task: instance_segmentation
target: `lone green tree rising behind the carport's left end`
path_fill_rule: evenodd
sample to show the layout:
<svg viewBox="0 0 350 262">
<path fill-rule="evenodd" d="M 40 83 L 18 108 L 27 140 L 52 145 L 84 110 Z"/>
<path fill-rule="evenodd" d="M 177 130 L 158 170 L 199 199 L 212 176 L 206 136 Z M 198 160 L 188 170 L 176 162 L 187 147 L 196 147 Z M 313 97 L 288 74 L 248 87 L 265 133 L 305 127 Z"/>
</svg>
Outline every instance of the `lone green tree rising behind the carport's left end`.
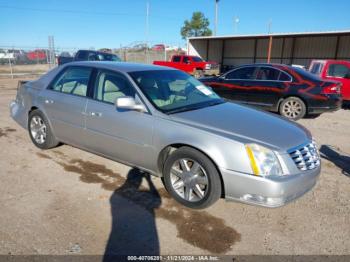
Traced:
<svg viewBox="0 0 350 262">
<path fill-rule="evenodd" d="M 183 39 L 192 36 L 209 36 L 212 31 L 209 29 L 209 20 L 202 12 L 194 12 L 191 21 L 185 20 L 181 27 L 181 36 Z"/>
</svg>

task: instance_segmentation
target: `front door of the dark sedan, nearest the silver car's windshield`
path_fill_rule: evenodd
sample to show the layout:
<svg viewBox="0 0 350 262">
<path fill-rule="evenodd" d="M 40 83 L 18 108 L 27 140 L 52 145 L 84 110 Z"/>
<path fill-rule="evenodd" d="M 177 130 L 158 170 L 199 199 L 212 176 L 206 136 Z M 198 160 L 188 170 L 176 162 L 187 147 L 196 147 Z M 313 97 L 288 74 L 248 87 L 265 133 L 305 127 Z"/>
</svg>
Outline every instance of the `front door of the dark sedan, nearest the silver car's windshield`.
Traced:
<svg viewBox="0 0 350 262">
<path fill-rule="evenodd" d="M 256 67 L 244 66 L 233 69 L 211 86 L 215 92 L 229 100 L 246 103 L 247 88 L 253 84 Z"/>
</svg>

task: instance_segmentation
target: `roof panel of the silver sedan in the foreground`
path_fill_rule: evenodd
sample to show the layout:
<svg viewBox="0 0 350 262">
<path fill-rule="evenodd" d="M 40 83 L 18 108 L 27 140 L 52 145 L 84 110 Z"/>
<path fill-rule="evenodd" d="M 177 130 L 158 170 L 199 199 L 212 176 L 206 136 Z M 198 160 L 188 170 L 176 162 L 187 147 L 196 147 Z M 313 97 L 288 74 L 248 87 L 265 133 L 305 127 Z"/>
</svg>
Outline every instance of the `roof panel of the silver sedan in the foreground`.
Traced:
<svg viewBox="0 0 350 262">
<path fill-rule="evenodd" d="M 65 64 L 76 66 L 91 66 L 96 68 L 109 69 L 114 71 L 120 71 L 124 73 L 136 72 L 136 71 L 151 71 L 151 70 L 175 70 L 170 67 L 127 63 L 127 62 L 115 62 L 115 61 L 78 61 Z"/>
</svg>

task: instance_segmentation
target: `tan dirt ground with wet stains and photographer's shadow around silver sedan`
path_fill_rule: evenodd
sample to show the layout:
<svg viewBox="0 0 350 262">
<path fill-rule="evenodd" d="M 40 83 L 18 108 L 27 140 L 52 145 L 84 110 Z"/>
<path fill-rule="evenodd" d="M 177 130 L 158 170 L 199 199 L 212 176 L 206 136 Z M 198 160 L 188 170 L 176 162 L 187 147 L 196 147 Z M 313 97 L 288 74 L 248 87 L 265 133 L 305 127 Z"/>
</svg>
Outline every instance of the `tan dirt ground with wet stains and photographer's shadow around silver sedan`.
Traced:
<svg viewBox="0 0 350 262">
<path fill-rule="evenodd" d="M 324 156 L 301 199 L 193 211 L 138 170 L 67 145 L 37 149 L 9 117 L 16 86 L 0 79 L 0 254 L 350 255 L 350 110 L 299 121 Z"/>
</svg>

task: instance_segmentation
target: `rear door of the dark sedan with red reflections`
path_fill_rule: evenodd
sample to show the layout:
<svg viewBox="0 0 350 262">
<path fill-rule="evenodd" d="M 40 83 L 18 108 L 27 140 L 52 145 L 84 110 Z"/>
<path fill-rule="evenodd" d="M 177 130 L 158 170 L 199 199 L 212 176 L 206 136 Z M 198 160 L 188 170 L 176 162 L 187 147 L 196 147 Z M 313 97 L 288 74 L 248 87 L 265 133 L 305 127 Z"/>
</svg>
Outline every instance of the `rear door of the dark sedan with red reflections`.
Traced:
<svg viewBox="0 0 350 262">
<path fill-rule="evenodd" d="M 276 105 L 283 96 L 285 82 L 290 82 L 291 77 L 272 66 L 260 66 L 251 81 L 251 85 L 245 90 L 246 102 L 263 108 L 271 108 Z"/>
</svg>

